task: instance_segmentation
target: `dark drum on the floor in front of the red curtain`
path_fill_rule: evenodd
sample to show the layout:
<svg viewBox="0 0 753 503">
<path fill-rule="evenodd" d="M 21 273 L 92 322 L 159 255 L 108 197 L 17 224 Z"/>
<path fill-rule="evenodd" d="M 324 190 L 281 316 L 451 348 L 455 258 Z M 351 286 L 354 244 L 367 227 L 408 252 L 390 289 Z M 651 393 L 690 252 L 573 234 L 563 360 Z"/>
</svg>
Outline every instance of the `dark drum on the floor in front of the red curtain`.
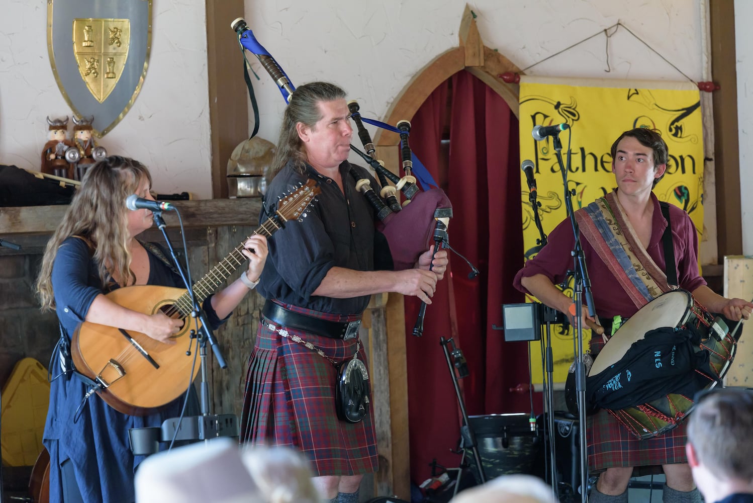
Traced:
<svg viewBox="0 0 753 503">
<path fill-rule="evenodd" d="M 489 414 L 486 416 L 468 416 L 468 423 L 476 437 L 481 466 L 486 480 L 492 480 L 502 474 L 532 474 L 540 449 L 537 432 L 531 431 L 529 414 Z M 481 483 L 474 463 L 471 439 L 468 428 L 461 428 L 463 447 L 471 471 L 477 483 Z"/>
</svg>

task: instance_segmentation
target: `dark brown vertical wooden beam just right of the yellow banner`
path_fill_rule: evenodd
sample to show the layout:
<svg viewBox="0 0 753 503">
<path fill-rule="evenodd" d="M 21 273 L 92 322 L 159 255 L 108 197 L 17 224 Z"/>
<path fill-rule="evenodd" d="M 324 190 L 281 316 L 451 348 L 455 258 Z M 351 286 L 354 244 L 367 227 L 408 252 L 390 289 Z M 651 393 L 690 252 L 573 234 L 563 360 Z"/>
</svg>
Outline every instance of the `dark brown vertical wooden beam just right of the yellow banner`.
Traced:
<svg viewBox="0 0 753 503">
<path fill-rule="evenodd" d="M 737 130 L 735 2 L 709 2 L 713 93 L 718 256 L 742 254 L 740 164 Z"/>
</svg>

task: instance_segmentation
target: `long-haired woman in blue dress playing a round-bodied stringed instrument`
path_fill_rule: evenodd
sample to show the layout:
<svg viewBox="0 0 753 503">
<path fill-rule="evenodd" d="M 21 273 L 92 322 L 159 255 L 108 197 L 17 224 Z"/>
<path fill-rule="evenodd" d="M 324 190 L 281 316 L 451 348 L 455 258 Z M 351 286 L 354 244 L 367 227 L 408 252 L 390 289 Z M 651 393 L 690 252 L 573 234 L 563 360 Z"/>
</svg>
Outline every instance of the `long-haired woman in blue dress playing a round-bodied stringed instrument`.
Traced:
<svg viewBox="0 0 753 503">
<path fill-rule="evenodd" d="M 137 312 L 114 303 L 105 294 L 131 285 L 183 287 L 180 277 L 162 258 L 136 239 L 153 224 L 148 209 L 131 211 L 131 194 L 150 199 L 151 175 L 141 163 L 107 157 L 87 172 L 66 215 L 47 243 L 37 280 L 43 310 L 55 309 L 63 335 L 69 340 L 81 322 L 121 328 L 148 335 L 164 344 L 183 321 L 157 312 Z M 248 270 L 241 278 L 203 301 L 212 328 L 255 286 L 267 259 L 267 240 L 255 235 L 244 243 Z M 130 451 L 130 428 L 159 427 L 178 416 L 182 398 L 146 416 L 119 413 L 99 397 L 76 410 L 87 385 L 62 373 L 53 355 L 50 408 L 44 426 L 44 446 L 50 452 L 50 501 L 134 501 L 133 474 L 142 457 Z M 158 386 L 159 383 L 154 383 Z"/>
</svg>

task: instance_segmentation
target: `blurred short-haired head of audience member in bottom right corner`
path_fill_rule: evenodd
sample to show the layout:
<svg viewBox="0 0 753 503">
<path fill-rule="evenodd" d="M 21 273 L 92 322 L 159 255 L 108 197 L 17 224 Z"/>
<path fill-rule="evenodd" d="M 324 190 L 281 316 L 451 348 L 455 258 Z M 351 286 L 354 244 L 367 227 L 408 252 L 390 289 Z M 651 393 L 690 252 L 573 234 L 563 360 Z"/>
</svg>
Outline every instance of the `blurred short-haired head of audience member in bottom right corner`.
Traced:
<svg viewBox="0 0 753 503">
<path fill-rule="evenodd" d="M 715 389 L 700 398 L 688 419 L 685 451 L 709 503 L 753 494 L 753 390 Z"/>
</svg>

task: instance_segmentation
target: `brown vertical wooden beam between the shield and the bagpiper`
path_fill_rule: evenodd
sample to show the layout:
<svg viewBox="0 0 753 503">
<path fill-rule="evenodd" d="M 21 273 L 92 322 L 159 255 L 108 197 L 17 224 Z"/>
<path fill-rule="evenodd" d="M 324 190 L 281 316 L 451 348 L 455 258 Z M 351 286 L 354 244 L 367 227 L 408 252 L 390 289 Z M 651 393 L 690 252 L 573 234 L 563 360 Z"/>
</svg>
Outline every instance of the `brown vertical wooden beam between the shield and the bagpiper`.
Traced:
<svg viewBox="0 0 753 503">
<path fill-rule="evenodd" d="M 212 145 L 212 197 L 227 197 L 227 160 L 248 139 L 248 91 L 243 58 L 230 23 L 243 15 L 243 0 L 207 0 L 206 59 Z"/>
</svg>

